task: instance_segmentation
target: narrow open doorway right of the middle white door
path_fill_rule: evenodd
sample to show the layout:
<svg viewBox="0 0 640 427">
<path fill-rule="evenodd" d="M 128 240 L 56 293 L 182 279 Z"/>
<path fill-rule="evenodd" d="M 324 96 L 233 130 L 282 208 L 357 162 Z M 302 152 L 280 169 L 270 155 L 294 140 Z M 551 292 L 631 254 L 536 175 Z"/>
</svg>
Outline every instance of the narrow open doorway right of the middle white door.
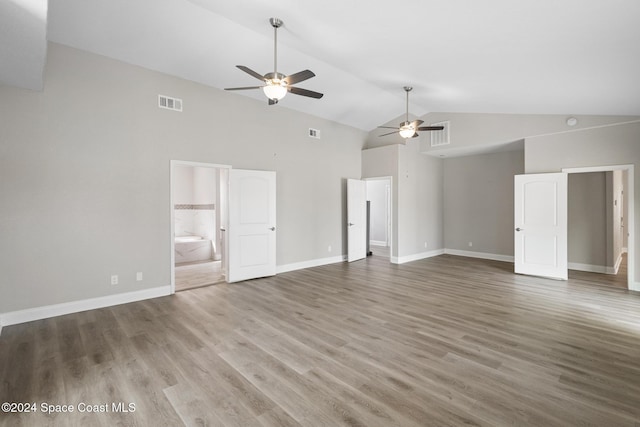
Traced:
<svg viewBox="0 0 640 427">
<path fill-rule="evenodd" d="M 369 202 L 369 250 L 373 256 L 391 260 L 391 177 L 366 178 Z"/>
</svg>

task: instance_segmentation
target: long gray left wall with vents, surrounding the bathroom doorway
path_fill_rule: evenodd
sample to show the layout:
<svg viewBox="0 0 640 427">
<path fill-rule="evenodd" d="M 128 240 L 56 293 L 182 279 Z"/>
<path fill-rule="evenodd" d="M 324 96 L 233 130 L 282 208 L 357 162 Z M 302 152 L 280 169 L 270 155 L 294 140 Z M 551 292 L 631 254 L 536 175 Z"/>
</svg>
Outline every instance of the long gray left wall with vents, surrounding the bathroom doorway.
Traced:
<svg viewBox="0 0 640 427">
<path fill-rule="evenodd" d="M 0 313 L 169 286 L 172 159 L 276 171 L 277 264 L 341 255 L 343 179 L 361 176 L 365 138 L 51 44 L 42 92 L 0 86 Z"/>
</svg>

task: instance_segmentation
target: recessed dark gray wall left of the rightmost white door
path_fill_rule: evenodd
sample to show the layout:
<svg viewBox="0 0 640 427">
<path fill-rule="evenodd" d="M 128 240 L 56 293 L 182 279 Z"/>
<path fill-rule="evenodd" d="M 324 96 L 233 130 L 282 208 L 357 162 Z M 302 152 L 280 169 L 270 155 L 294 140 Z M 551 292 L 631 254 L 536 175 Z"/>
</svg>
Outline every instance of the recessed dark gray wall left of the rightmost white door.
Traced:
<svg viewBox="0 0 640 427">
<path fill-rule="evenodd" d="M 446 159 L 445 247 L 513 256 L 513 177 L 522 173 L 524 151 Z"/>
</svg>

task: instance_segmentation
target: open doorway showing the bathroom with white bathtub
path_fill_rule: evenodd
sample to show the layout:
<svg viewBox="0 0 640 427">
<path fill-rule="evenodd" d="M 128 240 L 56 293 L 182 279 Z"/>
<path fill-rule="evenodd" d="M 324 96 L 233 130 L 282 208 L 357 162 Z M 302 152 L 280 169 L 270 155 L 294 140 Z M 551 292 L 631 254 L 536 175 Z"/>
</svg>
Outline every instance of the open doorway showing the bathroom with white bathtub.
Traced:
<svg viewBox="0 0 640 427">
<path fill-rule="evenodd" d="M 226 280 L 230 166 L 171 161 L 171 292 Z"/>
</svg>

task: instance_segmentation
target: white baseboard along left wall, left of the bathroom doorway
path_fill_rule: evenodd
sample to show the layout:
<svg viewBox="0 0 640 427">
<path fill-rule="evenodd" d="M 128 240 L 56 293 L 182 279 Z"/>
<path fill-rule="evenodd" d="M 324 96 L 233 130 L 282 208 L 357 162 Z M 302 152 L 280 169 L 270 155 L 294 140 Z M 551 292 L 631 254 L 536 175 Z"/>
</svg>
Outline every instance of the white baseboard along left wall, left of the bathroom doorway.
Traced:
<svg viewBox="0 0 640 427">
<path fill-rule="evenodd" d="M 31 322 L 49 317 L 79 313 L 81 311 L 95 310 L 103 307 L 111 307 L 113 305 L 126 304 L 145 299 L 164 297 L 170 294 L 171 290 L 169 286 L 159 286 L 157 288 L 107 295 L 104 297 L 90 298 L 81 301 L 72 301 L 62 304 L 45 305 L 25 310 L 11 311 L 9 313 L 0 314 L 0 325 L 16 325 L 18 323 Z"/>
</svg>

